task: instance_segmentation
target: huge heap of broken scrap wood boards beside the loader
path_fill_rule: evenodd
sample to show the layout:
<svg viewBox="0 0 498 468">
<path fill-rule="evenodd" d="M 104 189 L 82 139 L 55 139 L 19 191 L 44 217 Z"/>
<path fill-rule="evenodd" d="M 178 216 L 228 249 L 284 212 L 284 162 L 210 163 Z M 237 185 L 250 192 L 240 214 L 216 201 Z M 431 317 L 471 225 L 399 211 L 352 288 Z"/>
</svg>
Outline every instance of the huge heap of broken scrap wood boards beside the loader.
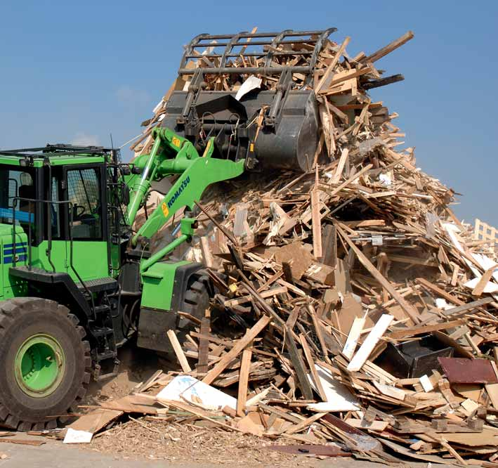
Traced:
<svg viewBox="0 0 498 468">
<path fill-rule="evenodd" d="M 375 64 L 412 37 L 354 58 L 349 38 L 329 41 L 313 82 L 293 77 L 320 100 L 327 161 L 203 197 L 186 255 L 209 267 L 217 294 L 183 346 L 169 333 L 183 375 L 158 373 L 105 406 L 111 419 L 202 419 L 370 460 L 498 466 L 497 264 L 454 216 L 454 192 L 417 168 L 412 148 L 395 150 L 396 115 L 367 94 L 400 79 Z M 206 75 L 208 89 L 237 89 L 251 60 L 227 65 L 241 74 Z M 165 112 L 167 95 L 134 150 Z"/>
</svg>

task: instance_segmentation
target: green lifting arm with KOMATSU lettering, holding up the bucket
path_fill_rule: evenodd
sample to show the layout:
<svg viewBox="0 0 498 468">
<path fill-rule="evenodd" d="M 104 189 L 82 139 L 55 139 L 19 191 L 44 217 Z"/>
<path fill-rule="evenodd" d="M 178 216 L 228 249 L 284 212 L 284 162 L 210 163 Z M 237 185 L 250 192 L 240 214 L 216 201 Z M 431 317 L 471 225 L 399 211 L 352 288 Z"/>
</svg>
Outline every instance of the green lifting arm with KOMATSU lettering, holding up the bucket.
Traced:
<svg viewBox="0 0 498 468">
<path fill-rule="evenodd" d="M 199 156 L 190 141 L 176 135 L 170 129 L 156 128 L 152 131 L 152 136 L 155 141 L 150 154 L 142 155 L 133 162 L 133 167 L 140 169 L 140 174 L 130 176 L 126 181 L 131 189 L 131 200 L 128 205 L 129 224 L 133 224 L 153 181 L 160 181 L 172 174 L 180 176 L 157 209 L 133 236 L 132 245 L 136 245 L 140 237 L 151 238 L 179 209 L 183 207 L 194 209 L 195 201 L 200 200 L 202 193 L 211 183 L 225 181 L 244 172 L 244 160 L 233 162 L 212 157 L 214 138 L 209 139 L 204 154 Z M 182 221 L 181 237 L 145 261 L 140 268 L 142 271 L 171 252 L 181 243 L 179 241 L 182 238 L 182 242 L 188 239 L 189 232 L 192 232 L 193 220 Z"/>
</svg>

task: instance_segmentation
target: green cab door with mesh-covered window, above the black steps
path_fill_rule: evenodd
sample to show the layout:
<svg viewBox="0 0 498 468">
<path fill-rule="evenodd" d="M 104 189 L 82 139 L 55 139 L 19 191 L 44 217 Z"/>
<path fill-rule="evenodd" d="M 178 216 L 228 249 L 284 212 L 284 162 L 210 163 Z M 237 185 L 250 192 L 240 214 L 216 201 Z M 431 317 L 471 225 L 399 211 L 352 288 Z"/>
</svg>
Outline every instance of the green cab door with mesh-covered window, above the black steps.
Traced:
<svg viewBox="0 0 498 468">
<path fill-rule="evenodd" d="M 67 273 L 75 282 L 109 276 L 105 165 L 64 169 Z"/>
</svg>

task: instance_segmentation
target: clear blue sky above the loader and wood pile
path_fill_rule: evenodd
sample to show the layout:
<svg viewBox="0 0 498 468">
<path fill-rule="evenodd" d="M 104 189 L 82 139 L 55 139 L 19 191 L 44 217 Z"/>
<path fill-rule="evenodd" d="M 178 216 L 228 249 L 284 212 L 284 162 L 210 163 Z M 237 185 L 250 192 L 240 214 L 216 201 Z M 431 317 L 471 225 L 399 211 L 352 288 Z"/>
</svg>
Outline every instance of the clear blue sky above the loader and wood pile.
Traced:
<svg viewBox="0 0 498 468">
<path fill-rule="evenodd" d="M 459 193 L 466 221 L 498 226 L 498 1 L 0 1 L 0 148 L 121 145 L 169 89 L 201 32 L 337 27 L 348 52 L 415 38 L 376 65 L 374 90 L 419 167 Z M 129 157 L 128 152 L 124 152 Z"/>
</svg>

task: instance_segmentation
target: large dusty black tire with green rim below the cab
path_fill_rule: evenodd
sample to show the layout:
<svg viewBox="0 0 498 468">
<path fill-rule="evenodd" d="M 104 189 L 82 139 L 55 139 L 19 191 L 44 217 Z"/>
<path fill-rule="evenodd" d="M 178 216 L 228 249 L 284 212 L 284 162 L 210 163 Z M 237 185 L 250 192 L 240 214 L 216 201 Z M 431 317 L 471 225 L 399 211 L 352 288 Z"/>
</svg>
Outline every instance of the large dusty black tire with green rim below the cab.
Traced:
<svg viewBox="0 0 498 468">
<path fill-rule="evenodd" d="M 43 430 L 68 419 L 91 376 L 90 345 L 78 323 L 55 301 L 0 302 L 0 425 Z"/>
</svg>

